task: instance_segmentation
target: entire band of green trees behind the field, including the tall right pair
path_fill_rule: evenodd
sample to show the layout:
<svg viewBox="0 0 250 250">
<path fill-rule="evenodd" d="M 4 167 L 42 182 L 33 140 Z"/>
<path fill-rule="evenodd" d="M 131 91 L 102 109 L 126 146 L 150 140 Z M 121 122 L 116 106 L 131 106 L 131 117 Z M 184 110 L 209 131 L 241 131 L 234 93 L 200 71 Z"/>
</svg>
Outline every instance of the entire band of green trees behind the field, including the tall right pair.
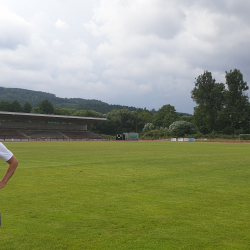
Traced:
<svg viewBox="0 0 250 250">
<path fill-rule="evenodd" d="M 159 139 L 169 136 L 195 137 L 197 134 L 250 134 L 250 104 L 245 93 L 247 83 L 237 69 L 226 72 L 225 79 L 225 84 L 217 83 L 208 71 L 195 79 L 191 98 L 197 106 L 193 115 L 178 113 L 170 104 L 163 105 L 158 111 L 123 108 L 103 114 L 95 110 L 54 107 L 47 99 L 35 107 L 29 102 L 22 106 L 17 100 L 2 101 L 0 110 L 107 118 L 107 121 L 95 123 L 90 128 L 106 135 L 138 132 L 140 138 Z"/>
</svg>

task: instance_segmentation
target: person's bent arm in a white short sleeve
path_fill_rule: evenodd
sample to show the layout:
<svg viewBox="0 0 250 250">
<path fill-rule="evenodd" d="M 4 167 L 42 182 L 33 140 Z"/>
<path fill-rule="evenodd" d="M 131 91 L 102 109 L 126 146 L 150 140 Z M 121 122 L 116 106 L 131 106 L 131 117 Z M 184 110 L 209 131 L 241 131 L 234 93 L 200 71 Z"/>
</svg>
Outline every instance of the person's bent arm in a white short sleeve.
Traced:
<svg viewBox="0 0 250 250">
<path fill-rule="evenodd" d="M 1 142 L 0 142 L 0 158 L 6 161 L 9 164 L 9 167 L 6 170 L 5 175 L 3 176 L 2 180 L 0 180 L 0 189 L 3 188 L 14 174 L 18 160 L 14 156 L 14 154 L 8 150 Z"/>
</svg>

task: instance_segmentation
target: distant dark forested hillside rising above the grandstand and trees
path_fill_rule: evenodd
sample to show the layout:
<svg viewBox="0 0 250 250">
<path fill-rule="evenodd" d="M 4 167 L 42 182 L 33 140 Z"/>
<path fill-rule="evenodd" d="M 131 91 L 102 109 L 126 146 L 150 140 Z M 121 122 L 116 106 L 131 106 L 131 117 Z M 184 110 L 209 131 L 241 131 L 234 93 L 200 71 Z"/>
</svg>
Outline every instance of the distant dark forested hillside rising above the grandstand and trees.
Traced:
<svg viewBox="0 0 250 250">
<path fill-rule="evenodd" d="M 17 100 L 21 105 L 28 101 L 32 107 L 43 100 L 49 100 L 55 108 L 68 108 L 77 110 L 95 110 L 97 112 L 106 114 L 113 109 L 128 109 L 135 111 L 137 108 L 122 105 L 111 105 L 99 100 L 89 100 L 81 98 L 60 98 L 55 94 L 46 93 L 42 91 L 34 91 L 20 88 L 4 88 L 0 87 L 0 102 L 8 101 L 13 102 Z"/>
</svg>

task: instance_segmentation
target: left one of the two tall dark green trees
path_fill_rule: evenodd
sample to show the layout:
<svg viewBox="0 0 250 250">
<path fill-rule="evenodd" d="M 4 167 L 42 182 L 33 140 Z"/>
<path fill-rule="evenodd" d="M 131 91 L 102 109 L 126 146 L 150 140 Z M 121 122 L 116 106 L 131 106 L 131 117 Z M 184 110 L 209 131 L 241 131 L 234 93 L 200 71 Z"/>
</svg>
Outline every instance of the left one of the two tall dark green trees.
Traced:
<svg viewBox="0 0 250 250">
<path fill-rule="evenodd" d="M 192 99 L 198 104 L 194 109 L 194 120 L 202 133 L 218 130 L 218 113 L 224 105 L 225 86 L 216 83 L 212 73 L 204 71 L 195 81 Z"/>
</svg>

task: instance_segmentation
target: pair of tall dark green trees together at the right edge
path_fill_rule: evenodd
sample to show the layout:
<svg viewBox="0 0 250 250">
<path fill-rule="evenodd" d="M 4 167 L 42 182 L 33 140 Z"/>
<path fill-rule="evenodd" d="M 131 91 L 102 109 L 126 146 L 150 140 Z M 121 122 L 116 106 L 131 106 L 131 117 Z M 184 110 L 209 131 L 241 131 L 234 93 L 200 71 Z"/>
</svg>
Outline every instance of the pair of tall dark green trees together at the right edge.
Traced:
<svg viewBox="0 0 250 250">
<path fill-rule="evenodd" d="M 191 92 L 197 106 L 194 124 L 203 134 L 250 133 L 249 89 L 240 70 L 226 71 L 225 84 L 216 83 L 212 73 L 205 71 L 195 81 Z"/>
</svg>

